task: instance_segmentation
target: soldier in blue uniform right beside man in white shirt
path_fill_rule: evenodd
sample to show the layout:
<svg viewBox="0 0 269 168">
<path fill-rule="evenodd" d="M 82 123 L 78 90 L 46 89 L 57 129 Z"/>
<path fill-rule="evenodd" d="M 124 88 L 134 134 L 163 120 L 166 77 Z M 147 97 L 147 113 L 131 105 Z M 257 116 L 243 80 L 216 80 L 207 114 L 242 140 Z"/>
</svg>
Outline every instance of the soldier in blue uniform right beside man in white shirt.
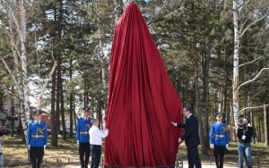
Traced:
<svg viewBox="0 0 269 168">
<path fill-rule="evenodd" d="M 82 167 L 88 168 L 90 158 L 90 135 L 89 130 L 92 125 L 90 118 L 90 108 L 83 107 L 83 117 L 77 121 L 76 141 L 79 144 L 80 163 Z"/>
</svg>

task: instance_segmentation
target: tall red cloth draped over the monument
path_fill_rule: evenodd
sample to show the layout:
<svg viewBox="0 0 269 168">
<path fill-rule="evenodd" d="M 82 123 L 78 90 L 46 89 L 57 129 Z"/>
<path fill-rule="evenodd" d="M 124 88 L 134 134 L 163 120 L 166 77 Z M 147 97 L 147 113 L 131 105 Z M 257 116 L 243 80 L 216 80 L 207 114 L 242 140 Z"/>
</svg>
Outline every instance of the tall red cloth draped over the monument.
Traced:
<svg viewBox="0 0 269 168">
<path fill-rule="evenodd" d="M 136 4 L 115 27 L 110 58 L 105 164 L 169 166 L 178 153 L 181 103 Z"/>
</svg>

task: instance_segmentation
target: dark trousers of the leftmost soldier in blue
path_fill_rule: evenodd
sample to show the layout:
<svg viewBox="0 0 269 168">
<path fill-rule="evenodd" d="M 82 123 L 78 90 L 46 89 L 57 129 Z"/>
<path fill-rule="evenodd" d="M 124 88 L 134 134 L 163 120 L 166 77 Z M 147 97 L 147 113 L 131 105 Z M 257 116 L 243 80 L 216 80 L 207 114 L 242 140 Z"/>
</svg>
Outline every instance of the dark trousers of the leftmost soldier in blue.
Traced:
<svg viewBox="0 0 269 168">
<path fill-rule="evenodd" d="M 41 167 L 44 157 L 44 147 L 30 147 L 30 164 L 32 168 Z"/>
</svg>

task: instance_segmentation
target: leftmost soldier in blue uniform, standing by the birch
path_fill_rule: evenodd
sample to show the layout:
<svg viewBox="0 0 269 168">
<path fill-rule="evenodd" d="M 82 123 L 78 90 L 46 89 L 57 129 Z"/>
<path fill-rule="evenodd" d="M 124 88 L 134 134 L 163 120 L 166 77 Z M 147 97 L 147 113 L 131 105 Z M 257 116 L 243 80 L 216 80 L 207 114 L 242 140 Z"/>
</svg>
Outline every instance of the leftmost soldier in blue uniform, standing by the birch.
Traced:
<svg viewBox="0 0 269 168">
<path fill-rule="evenodd" d="M 47 123 L 41 121 L 41 114 L 44 111 L 35 111 L 35 121 L 30 122 L 27 131 L 27 143 L 30 149 L 30 163 L 32 168 L 40 167 L 44 149 L 48 142 Z"/>
</svg>

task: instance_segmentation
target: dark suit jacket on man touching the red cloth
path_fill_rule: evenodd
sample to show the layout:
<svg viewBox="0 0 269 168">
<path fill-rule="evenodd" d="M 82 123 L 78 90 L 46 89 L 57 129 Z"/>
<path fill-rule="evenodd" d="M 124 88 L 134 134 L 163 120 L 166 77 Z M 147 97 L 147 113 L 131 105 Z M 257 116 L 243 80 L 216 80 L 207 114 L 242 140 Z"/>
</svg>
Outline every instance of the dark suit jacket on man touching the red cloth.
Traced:
<svg viewBox="0 0 269 168">
<path fill-rule="evenodd" d="M 200 145 L 198 120 L 194 114 L 191 114 L 185 123 L 178 123 L 178 128 L 184 128 L 182 140 L 185 140 L 187 147 Z"/>
</svg>

